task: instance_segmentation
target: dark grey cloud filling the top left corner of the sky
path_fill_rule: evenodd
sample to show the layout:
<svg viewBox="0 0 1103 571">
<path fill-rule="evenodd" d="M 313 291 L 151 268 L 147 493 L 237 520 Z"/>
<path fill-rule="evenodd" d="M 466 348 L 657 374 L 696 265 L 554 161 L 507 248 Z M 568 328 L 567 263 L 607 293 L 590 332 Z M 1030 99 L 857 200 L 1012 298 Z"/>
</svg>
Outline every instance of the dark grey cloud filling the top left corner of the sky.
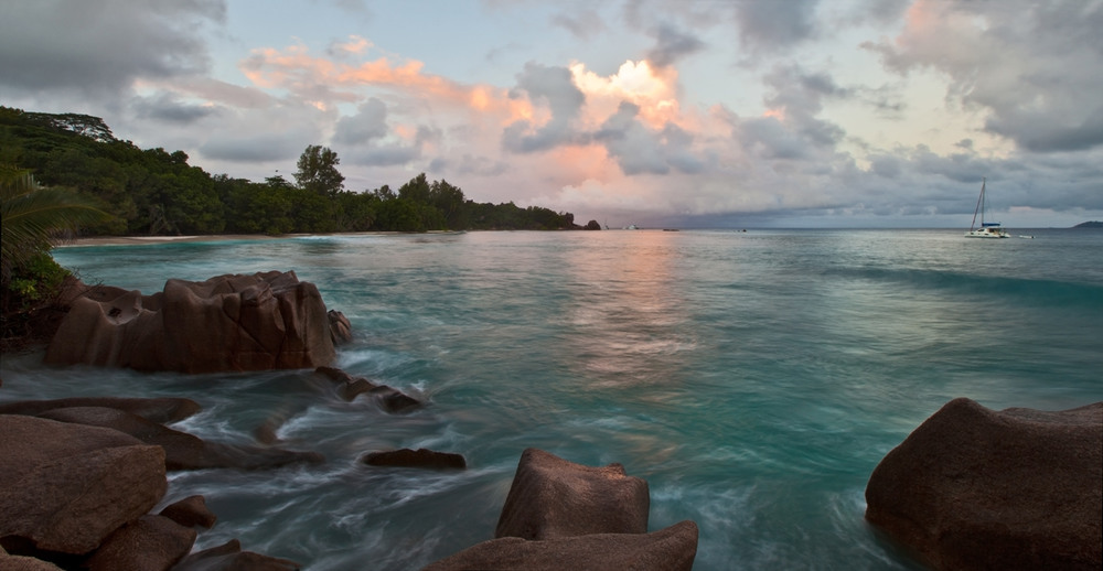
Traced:
<svg viewBox="0 0 1103 571">
<path fill-rule="evenodd" d="M 0 10 L 0 85 L 96 95 L 205 71 L 200 31 L 226 15 L 222 0 L 34 0 Z"/>
</svg>

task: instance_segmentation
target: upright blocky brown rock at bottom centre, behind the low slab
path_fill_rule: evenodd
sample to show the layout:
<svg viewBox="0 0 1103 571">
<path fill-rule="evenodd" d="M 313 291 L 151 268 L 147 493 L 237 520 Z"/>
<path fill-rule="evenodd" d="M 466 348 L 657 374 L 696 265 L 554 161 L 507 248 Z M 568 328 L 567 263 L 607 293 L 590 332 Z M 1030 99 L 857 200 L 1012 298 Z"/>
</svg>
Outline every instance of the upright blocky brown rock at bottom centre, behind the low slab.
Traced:
<svg viewBox="0 0 1103 571">
<path fill-rule="evenodd" d="M 647 482 L 624 466 L 590 467 L 537 449 L 521 455 L 494 537 L 646 534 Z"/>
</svg>

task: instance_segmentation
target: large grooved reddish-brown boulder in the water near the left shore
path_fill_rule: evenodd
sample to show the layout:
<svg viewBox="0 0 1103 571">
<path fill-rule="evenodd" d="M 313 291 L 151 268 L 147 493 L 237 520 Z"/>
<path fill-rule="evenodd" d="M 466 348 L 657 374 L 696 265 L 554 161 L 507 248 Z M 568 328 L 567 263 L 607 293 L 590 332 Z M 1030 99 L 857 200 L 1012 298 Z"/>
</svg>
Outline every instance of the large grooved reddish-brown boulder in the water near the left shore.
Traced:
<svg viewBox="0 0 1103 571">
<path fill-rule="evenodd" d="M 312 368 L 335 355 L 321 294 L 293 271 L 99 292 L 73 301 L 46 363 L 214 373 Z"/>
</svg>

